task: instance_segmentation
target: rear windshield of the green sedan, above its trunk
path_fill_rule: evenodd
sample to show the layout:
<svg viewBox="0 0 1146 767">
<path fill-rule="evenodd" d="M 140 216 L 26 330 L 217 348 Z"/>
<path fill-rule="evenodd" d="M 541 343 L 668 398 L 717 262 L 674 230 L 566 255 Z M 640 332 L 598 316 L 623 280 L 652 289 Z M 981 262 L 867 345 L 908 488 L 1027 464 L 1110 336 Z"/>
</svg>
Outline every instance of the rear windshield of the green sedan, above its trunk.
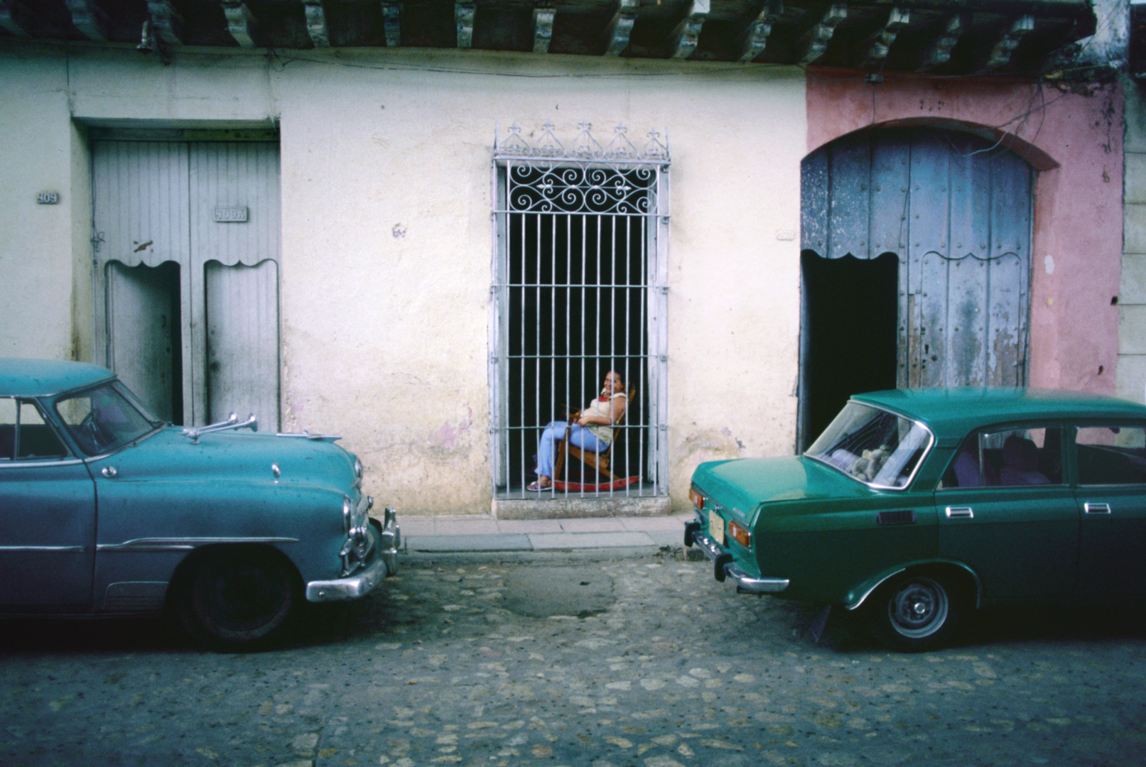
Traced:
<svg viewBox="0 0 1146 767">
<path fill-rule="evenodd" d="M 923 424 L 849 402 L 804 456 L 873 488 L 902 489 L 931 442 Z"/>
</svg>

